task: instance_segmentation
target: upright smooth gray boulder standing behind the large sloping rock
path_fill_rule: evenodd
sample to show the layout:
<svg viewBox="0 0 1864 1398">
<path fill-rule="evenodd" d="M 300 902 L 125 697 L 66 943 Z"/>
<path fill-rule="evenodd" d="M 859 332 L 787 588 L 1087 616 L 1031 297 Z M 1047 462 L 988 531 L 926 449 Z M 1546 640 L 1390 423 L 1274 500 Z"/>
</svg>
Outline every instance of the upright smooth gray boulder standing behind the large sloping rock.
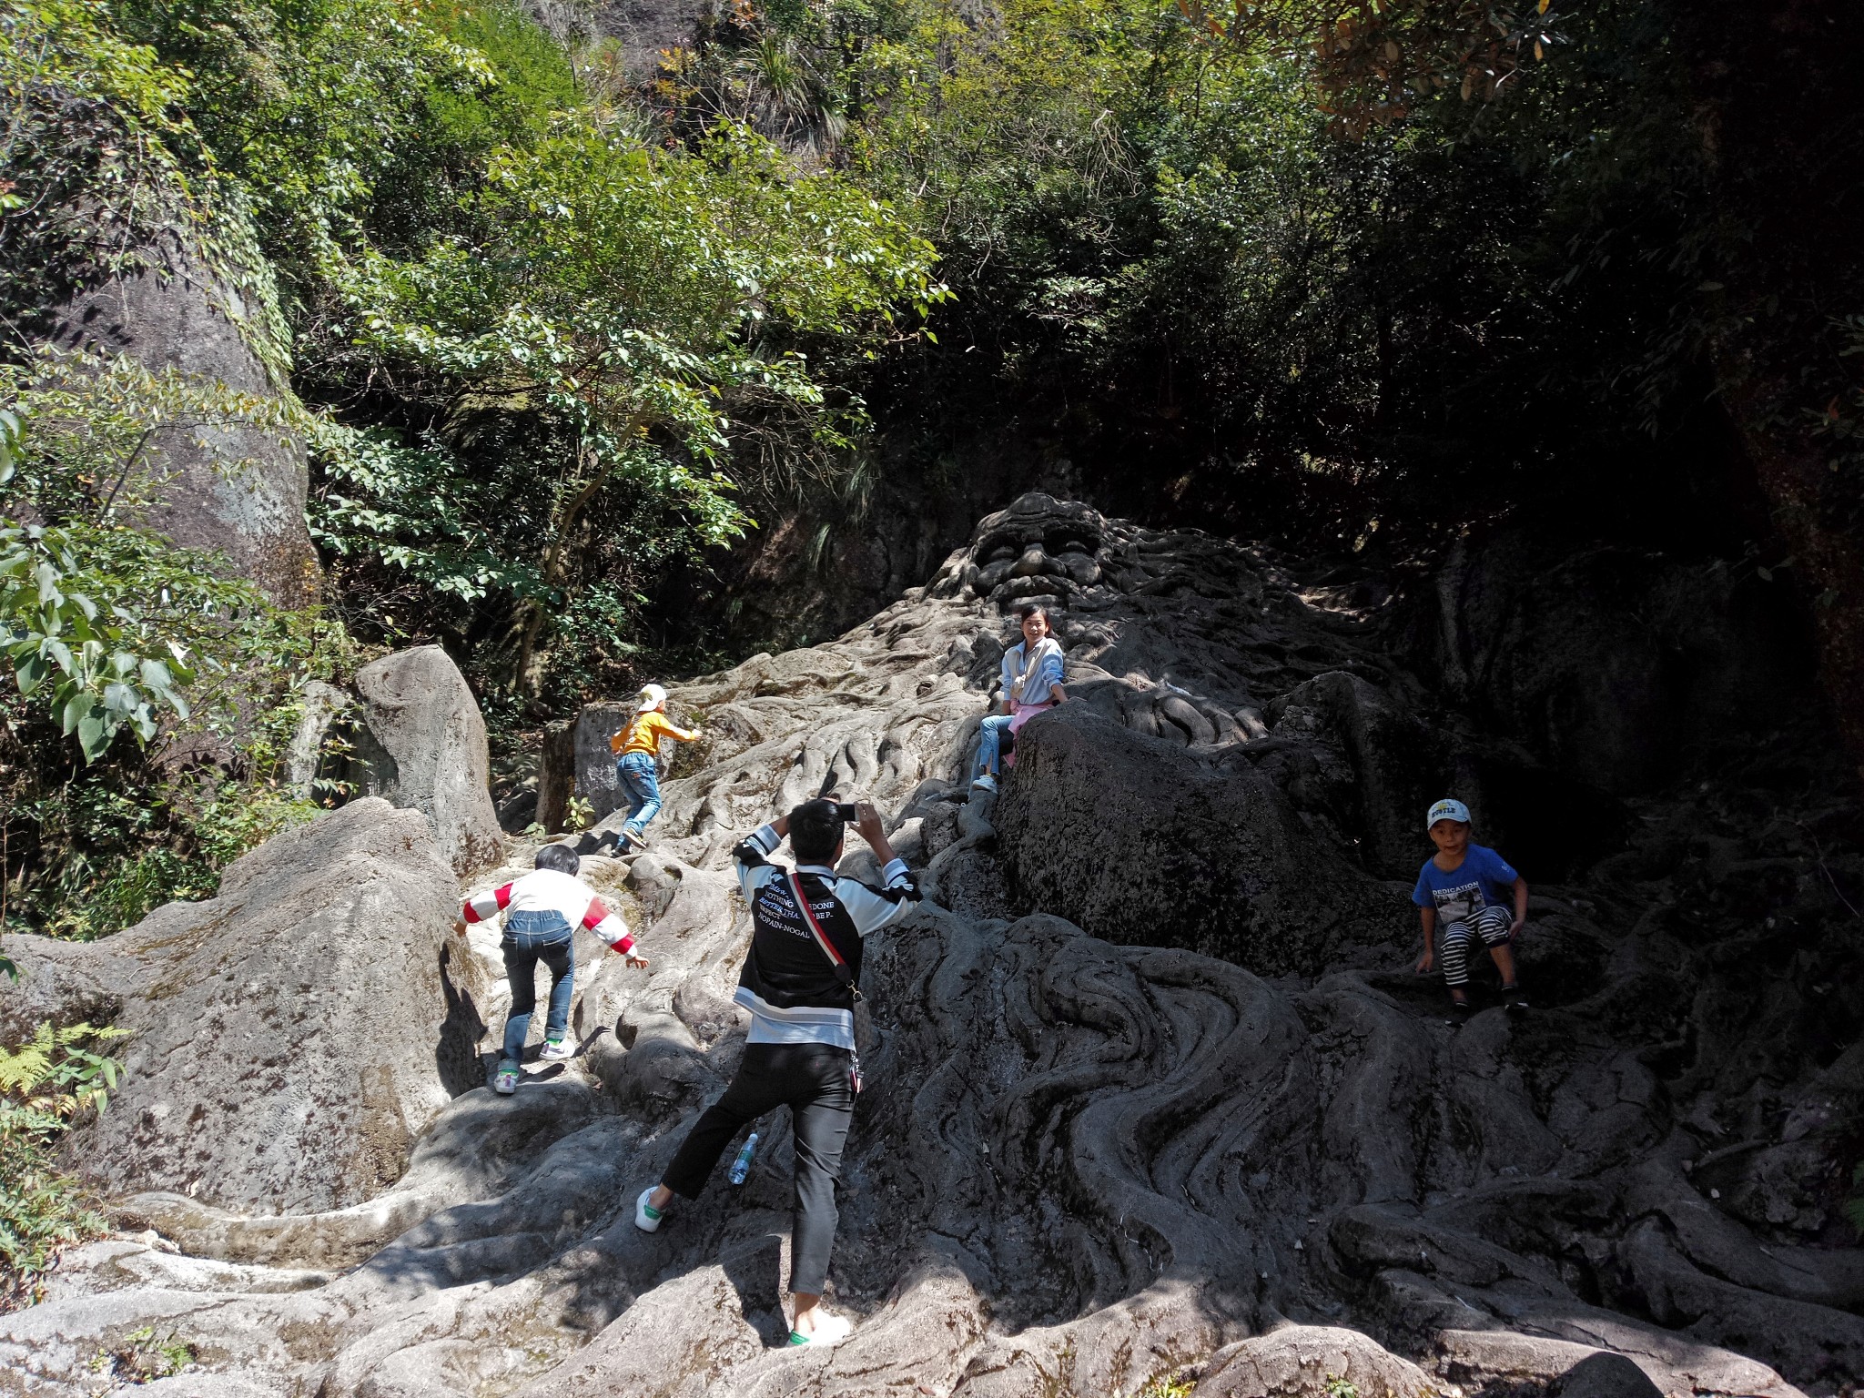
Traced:
<svg viewBox="0 0 1864 1398">
<path fill-rule="evenodd" d="M 453 658 L 419 645 L 356 671 L 356 757 L 371 796 L 419 811 L 457 874 L 505 854 L 479 701 Z"/>
</svg>

